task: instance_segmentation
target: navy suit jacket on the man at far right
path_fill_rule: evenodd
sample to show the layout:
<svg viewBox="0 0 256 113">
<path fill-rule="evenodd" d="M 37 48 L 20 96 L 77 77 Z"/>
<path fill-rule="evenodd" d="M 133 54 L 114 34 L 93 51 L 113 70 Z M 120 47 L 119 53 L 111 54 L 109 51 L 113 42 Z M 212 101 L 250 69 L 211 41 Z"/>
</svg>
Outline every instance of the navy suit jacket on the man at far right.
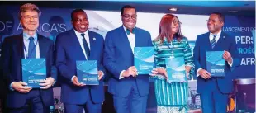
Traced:
<svg viewBox="0 0 256 113">
<path fill-rule="evenodd" d="M 230 65 L 225 61 L 225 78 L 216 78 L 216 82 L 220 92 L 232 92 L 232 79 L 234 76 L 232 76 L 231 71 L 236 66 L 239 66 L 239 56 L 236 49 L 235 38 L 230 37 L 230 35 L 227 35 L 222 31 L 216 46 L 211 49 L 211 41 L 209 39 L 209 35 L 210 32 L 197 36 L 196 44 L 194 47 L 194 62 L 196 66 L 196 72 L 198 68 L 206 69 L 206 51 L 229 51 L 233 59 L 232 67 L 230 67 Z M 201 76 L 197 77 L 197 92 L 201 93 L 210 91 L 211 86 L 216 85 L 213 84 L 215 82 L 212 81 L 212 78 L 205 80 L 204 78 L 201 78 Z"/>
</svg>

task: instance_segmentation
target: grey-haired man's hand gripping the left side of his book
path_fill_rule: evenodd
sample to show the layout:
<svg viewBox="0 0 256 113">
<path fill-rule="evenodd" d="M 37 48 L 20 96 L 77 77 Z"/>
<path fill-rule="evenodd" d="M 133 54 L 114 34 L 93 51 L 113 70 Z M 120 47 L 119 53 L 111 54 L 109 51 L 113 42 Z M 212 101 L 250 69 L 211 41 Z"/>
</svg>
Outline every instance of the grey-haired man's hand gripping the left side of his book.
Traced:
<svg viewBox="0 0 256 113">
<path fill-rule="evenodd" d="M 21 93 L 27 93 L 31 91 L 31 87 L 26 87 L 27 83 L 26 82 L 13 82 L 12 83 L 12 88 L 16 90 L 17 92 Z"/>
</svg>

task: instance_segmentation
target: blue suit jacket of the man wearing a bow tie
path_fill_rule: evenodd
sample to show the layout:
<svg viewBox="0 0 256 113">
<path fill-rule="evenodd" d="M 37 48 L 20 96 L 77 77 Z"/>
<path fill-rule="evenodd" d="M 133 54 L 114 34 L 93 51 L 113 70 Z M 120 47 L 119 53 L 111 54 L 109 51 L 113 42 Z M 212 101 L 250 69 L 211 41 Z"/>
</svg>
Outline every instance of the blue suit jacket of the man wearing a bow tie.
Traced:
<svg viewBox="0 0 256 113">
<path fill-rule="evenodd" d="M 135 47 L 153 46 L 148 31 L 135 27 Z M 113 75 L 108 82 L 108 92 L 126 97 L 136 82 L 140 96 L 149 93 L 149 75 L 138 75 L 136 78 L 119 79 L 122 70 L 134 66 L 134 54 L 123 26 L 107 32 L 104 50 L 104 65 Z"/>
</svg>

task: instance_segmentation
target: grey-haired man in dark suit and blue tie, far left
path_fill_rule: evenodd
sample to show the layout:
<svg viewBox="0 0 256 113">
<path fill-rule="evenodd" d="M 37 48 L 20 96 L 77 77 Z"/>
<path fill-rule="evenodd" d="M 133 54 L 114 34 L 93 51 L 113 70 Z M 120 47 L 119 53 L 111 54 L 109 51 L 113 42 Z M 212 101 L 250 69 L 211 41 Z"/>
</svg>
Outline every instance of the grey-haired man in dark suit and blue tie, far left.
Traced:
<svg viewBox="0 0 256 113">
<path fill-rule="evenodd" d="M 21 6 L 19 19 L 23 32 L 7 37 L 2 44 L 2 73 L 9 91 L 7 107 L 11 113 L 45 113 L 54 105 L 52 85 L 56 74 L 53 66 L 54 43 L 39 35 L 40 10 L 27 3 Z M 40 83 L 40 89 L 26 87 L 22 82 L 21 59 L 46 59 L 47 78 Z"/>
</svg>

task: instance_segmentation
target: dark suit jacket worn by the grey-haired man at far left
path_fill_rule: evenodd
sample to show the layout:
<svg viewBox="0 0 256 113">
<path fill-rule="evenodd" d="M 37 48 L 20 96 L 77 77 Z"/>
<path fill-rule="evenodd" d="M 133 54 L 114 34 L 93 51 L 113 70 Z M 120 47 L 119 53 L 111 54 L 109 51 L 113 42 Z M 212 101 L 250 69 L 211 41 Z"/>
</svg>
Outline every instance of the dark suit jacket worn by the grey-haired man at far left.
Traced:
<svg viewBox="0 0 256 113">
<path fill-rule="evenodd" d="M 56 80 L 56 70 L 54 67 L 54 43 L 52 40 L 38 35 L 38 45 L 40 47 L 40 58 L 46 59 L 47 77 L 53 77 Z M 23 35 L 13 35 L 5 38 L 2 45 L 2 73 L 6 86 L 9 87 L 12 82 L 22 81 L 21 59 L 24 59 Z M 7 106 L 21 107 L 26 103 L 26 93 L 9 90 L 7 92 Z M 45 106 L 54 105 L 53 89 L 40 89 L 40 96 Z"/>
</svg>

